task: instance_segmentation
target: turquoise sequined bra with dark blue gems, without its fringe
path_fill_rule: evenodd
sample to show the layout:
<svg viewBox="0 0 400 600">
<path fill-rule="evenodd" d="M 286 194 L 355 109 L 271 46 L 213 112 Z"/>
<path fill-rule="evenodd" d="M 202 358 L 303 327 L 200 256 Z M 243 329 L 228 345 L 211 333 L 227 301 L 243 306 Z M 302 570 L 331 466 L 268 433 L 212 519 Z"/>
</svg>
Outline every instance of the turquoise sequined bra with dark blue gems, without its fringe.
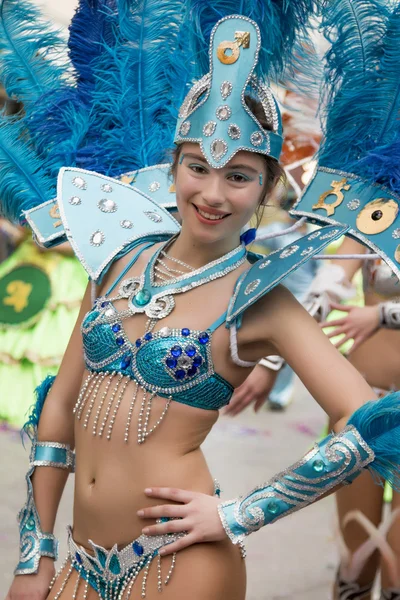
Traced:
<svg viewBox="0 0 400 600">
<path fill-rule="evenodd" d="M 233 387 L 214 371 L 214 329 L 163 327 L 132 343 L 112 302 L 99 298 L 82 324 L 85 363 L 89 371 L 121 373 L 163 398 L 218 410 L 229 403 Z"/>
</svg>

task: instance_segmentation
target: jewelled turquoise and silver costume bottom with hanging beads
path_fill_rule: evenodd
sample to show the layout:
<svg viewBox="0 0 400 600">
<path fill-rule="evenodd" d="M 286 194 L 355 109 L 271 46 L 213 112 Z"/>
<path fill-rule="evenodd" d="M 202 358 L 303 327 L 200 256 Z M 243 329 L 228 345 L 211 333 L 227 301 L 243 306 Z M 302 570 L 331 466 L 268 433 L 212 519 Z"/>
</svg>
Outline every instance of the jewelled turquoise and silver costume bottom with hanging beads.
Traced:
<svg viewBox="0 0 400 600">
<path fill-rule="evenodd" d="M 159 519 L 158 522 L 166 522 L 169 519 Z M 167 585 L 175 567 L 176 554 L 172 555 L 172 563 L 168 573 L 164 576 L 161 569 L 161 556 L 158 554 L 162 546 L 171 544 L 186 535 L 185 533 L 168 533 L 164 535 L 148 536 L 140 535 L 136 540 L 118 550 L 117 545 L 111 550 L 106 550 L 89 541 L 92 552 L 87 552 L 79 546 L 72 537 L 72 530 L 68 528 L 68 554 L 61 570 L 54 578 L 58 580 L 59 574 L 69 564 L 69 569 L 61 582 L 60 589 L 56 590 L 55 598 L 59 598 L 64 591 L 74 571 L 78 572 L 73 598 L 77 597 L 78 588 L 85 582 L 83 600 L 86 600 L 89 587 L 94 589 L 99 598 L 103 600 L 128 600 L 131 597 L 133 586 L 143 571 L 141 597 L 146 597 L 147 576 L 153 560 L 157 561 L 157 585 L 158 591 L 162 591 L 163 585 Z M 135 596 L 137 597 L 137 595 Z"/>
</svg>

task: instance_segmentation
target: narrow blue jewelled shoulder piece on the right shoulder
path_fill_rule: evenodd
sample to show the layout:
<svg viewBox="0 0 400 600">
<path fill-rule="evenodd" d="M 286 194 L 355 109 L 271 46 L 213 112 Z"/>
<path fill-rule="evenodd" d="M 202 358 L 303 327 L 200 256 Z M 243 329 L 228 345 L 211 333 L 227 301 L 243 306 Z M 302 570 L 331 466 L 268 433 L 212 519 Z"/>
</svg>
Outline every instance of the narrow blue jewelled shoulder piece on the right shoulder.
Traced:
<svg viewBox="0 0 400 600">
<path fill-rule="evenodd" d="M 288 275 L 319 254 L 333 240 L 344 235 L 348 227 L 322 227 L 296 240 L 295 243 L 258 260 L 239 278 L 229 305 L 226 325 L 229 327 L 249 306 L 271 291 Z"/>
</svg>

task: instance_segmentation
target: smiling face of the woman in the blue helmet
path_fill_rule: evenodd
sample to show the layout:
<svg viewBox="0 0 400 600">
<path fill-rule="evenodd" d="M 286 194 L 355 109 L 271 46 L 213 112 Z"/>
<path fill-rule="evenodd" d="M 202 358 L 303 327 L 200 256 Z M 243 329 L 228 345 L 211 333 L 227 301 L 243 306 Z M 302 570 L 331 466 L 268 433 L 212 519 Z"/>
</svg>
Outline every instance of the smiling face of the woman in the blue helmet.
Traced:
<svg viewBox="0 0 400 600">
<path fill-rule="evenodd" d="M 265 177 L 258 154 L 241 151 L 222 169 L 213 169 L 198 144 L 183 144 L 175 176 L 183 226 L 204 243 L 237 238 L 262 200 Z"/>
</svg>

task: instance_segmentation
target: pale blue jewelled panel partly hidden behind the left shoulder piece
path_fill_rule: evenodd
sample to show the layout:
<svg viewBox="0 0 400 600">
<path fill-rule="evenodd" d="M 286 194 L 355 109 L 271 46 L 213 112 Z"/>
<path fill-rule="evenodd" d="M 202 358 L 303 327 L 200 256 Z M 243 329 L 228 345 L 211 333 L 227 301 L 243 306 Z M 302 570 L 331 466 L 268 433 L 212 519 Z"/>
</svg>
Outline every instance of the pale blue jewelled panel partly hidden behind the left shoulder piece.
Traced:
<svg viewBox="0 0 400 600">
<path fill-rule="evenodd" d="M 170 167 L 169 163 L 145 167 L 125 173 L 119 179 L 112 179 L 112 181 L 115 185 L 127 184 L 158 206 L 174 211 L 176 196 L 175 186 L 169 175 Z M 109 178 L 106 179 L 110 181 Z M 25 211 L 24 216 L 40 246 L 52 248 L 67 241 L 56 198 Z"/>
</svg>

